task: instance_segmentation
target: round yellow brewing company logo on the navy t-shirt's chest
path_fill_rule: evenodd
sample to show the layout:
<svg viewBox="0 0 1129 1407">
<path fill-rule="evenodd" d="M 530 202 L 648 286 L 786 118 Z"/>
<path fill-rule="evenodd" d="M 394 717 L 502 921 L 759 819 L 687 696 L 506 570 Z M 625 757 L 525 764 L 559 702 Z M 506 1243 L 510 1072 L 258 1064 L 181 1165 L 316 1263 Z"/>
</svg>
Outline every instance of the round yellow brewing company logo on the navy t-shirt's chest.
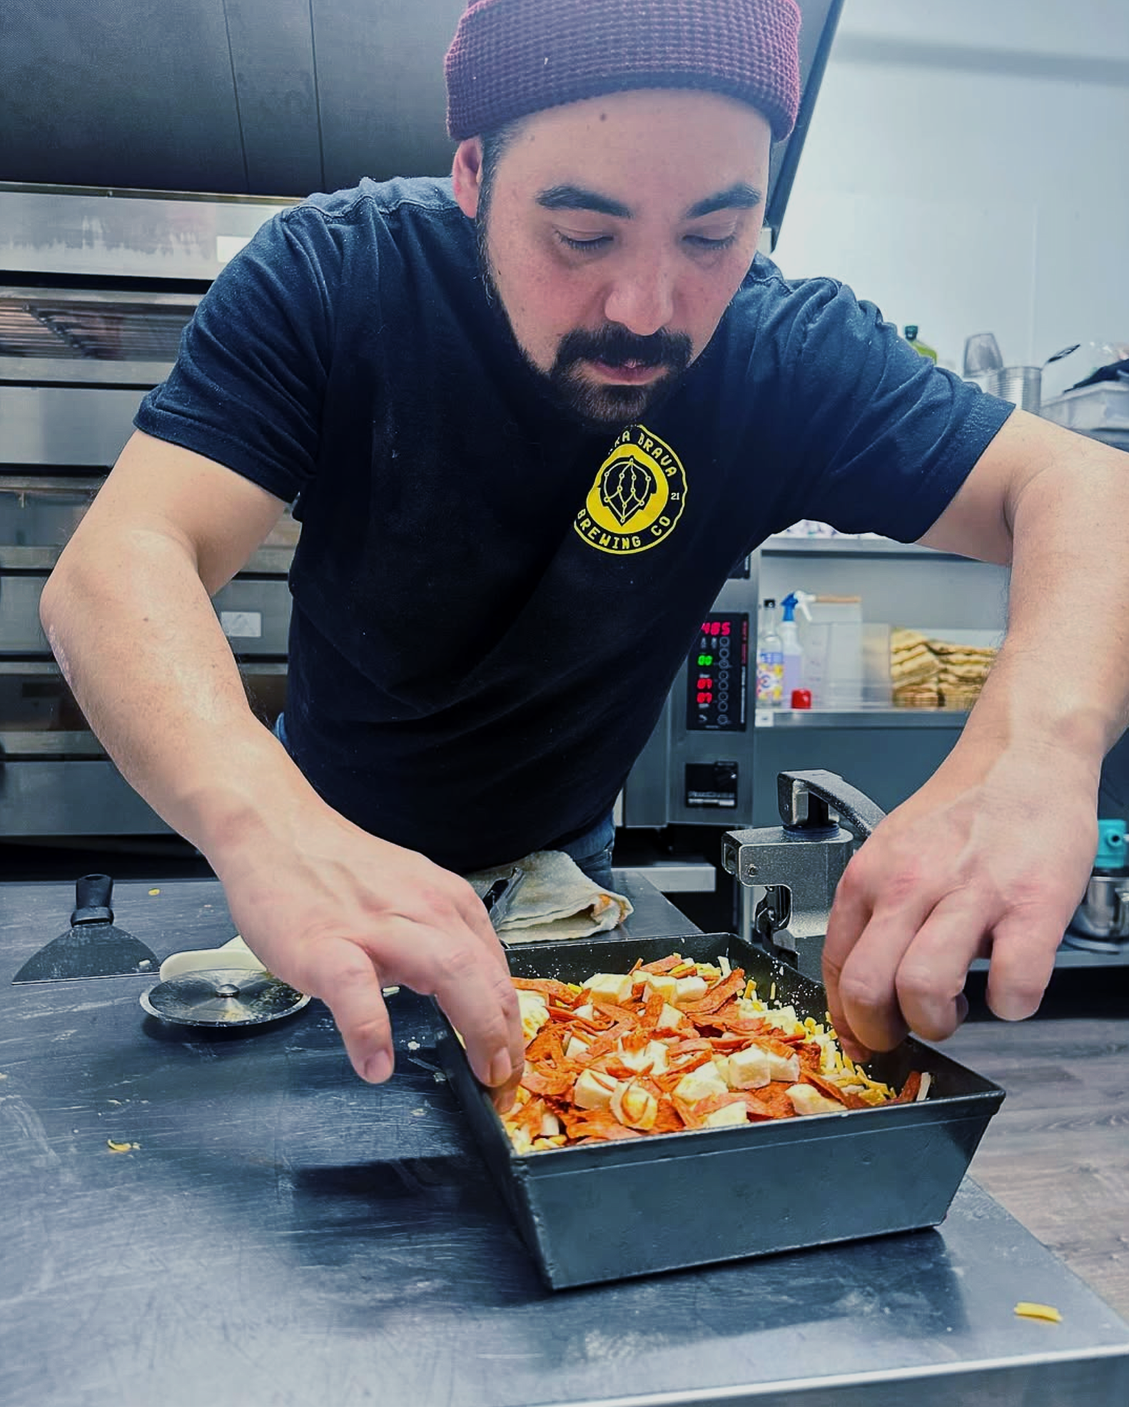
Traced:
<svg viewBox="0 0 1129 1407">
<path fill-rule="evenodd" d="M 600 552 L 646 552 L 670 536 L 684 507 L 679 456 L 645 425 L 629 425 L 600 466 L 573 526 Z"/>
</svg>

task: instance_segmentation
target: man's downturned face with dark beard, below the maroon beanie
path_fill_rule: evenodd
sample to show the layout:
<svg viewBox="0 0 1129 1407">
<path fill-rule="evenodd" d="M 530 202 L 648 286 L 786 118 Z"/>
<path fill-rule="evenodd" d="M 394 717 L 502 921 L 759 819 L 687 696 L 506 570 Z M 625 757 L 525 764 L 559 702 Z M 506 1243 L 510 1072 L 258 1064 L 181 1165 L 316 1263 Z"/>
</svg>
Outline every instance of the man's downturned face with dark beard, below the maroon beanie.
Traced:
<svg viewBox="0 0 1129 1407">
<path fill-rule="evenodd" d="M 581 419 L 619 426 L 701 353 L 756 253 L 769 124 L 712 93 L 648 89 L 526 118 L 481 190 L 455 191 L 529 364 Z"/>
</svg>

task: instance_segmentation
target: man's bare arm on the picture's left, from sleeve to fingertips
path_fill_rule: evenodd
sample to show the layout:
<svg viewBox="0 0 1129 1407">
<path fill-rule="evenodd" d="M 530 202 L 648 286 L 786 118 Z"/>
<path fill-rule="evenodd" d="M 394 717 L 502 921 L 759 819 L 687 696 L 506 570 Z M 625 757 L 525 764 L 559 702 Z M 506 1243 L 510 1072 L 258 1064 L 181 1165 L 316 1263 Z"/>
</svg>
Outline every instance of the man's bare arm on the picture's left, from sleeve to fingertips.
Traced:
<svg viewBox="0 0 1129 1407">
<path fill-rule="evenodd" d="M 439 999 L 505 1100 L 521 1023 L 474 891 L 327 806 L 248 705 L 208 598 L 282 509 L 224 466 L 135 433 L 44 588 L 44 629 L 121 772 L 208 858 L 270 971 L 325 1000 L 358 1074 L 391 1074 L 380 992 L 403 983 Z"/>
</svg>

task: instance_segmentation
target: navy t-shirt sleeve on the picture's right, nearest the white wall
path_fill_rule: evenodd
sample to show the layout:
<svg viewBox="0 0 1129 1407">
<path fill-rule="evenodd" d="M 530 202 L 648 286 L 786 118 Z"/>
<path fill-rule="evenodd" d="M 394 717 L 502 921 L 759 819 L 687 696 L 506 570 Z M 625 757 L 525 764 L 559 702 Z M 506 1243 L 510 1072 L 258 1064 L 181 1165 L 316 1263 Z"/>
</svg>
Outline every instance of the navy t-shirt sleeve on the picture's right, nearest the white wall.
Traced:
<svg viewBox="0 0 1129 1407">
<path fill-rule="evenodd" d="M 770 394 L 787 407 L 778 453 L 793 469 L 781 516 L 914 542 L 1012 407 L 919 356 L 843 284 L 793 287 L 770 329 Z"/>
</svg>

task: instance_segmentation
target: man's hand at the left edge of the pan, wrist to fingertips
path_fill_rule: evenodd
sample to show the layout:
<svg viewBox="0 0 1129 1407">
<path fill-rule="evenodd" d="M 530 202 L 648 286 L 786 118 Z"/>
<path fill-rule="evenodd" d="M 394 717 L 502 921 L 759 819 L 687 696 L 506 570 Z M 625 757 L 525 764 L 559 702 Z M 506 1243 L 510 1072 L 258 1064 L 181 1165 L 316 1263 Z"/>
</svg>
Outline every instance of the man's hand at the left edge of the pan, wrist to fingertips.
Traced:
<svg viewBox="0 0 1129 1407">
<path fill-rule="evenodd" d="M 320 808 L 320 815 L 318 815 Z M 496 1103 L 512 1103 L 524 1040 L 505 954 L 470 885 L 314 802 L 300 846 L 277 834 L 214 864 L 244 941 L 284 982 L 334 1014 L 353 1069 L 393 1071 L 381 988 L 435 996 Z"/>
</svg>

